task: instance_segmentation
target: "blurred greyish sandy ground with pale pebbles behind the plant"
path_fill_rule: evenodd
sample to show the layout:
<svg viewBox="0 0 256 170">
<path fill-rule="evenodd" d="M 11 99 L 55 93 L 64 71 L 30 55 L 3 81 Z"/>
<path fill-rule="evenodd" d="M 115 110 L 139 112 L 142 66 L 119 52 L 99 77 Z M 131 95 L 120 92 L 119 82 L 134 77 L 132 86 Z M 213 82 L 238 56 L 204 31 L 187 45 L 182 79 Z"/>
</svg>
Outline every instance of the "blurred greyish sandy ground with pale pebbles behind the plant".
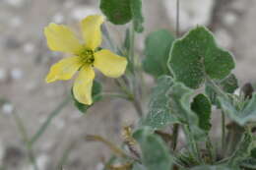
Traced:
<svg viewBox="0 0 256 170">
<path fill-rule="evenodd" d="M 145 32 L 136 42 L 140 53 L 149 32 L 175 29 L 175 0 L 143 2 Z M 65 103 L 72 81 L 44 83 L 49 67 L 63 55 L 47 49 L 43 28 L 51 22 L 77 28 L 81 19 L 97 13 L 98 0 L 0 0 L 1 170 L 32 170 L 17 116 L 32 137 L 58 105 L 65 105 L 33 144 L 39 170 L 56 169 L 61 160 L 65 160 L 65 170 L 101 170 L 109 150 L 100 143 L 85 142 L 85 136 L 100 135 L 118 143 L 122 126 L 136 120 L 132 105 L 121 99 L 100 101 L 82 115 L 72 102 Z M 240 85 L 256 81 L 255 18 L 255 0 L 181 0 L 181 31 L 196 25 L 211 28 L 220 45 L 234 54 Z M 108 27 L 120 43 L 124 27 Z M 112 80 L 98 79 L 104 88 L 112 84 Z"/>
</svg>

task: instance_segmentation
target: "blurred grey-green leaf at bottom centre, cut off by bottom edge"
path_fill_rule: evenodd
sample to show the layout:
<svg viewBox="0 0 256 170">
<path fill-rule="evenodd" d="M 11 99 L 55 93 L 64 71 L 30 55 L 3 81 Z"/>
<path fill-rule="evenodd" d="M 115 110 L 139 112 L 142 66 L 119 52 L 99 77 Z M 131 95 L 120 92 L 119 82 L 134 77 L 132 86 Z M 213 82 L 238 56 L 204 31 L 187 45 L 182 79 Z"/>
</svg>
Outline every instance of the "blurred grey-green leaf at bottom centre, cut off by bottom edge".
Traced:
<svg viewBox="0 0 256 170">
<path fill-rule="evenodd" d="M 158 135 L 153 134 L 149 127 L 136 131 L 134 139 L 140 143 L 142 164 L 147 170 L 170 170 L 172 158 L 168 147 Z"/>
</svg>

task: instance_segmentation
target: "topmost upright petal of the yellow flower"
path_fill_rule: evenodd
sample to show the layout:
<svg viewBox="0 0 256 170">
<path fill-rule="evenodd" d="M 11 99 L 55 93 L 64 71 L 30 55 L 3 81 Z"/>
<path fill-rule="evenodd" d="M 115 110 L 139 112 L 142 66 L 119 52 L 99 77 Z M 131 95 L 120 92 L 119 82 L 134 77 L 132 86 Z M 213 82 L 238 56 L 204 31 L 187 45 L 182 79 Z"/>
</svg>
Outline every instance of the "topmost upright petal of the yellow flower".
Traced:
<svg viewBox="0 0 256 170">
<path fill-rule="evenodd" d="M 104 19 L 102 16 L 89 16 L 81 22 L 83 37 L 86 41 L 86 46 L 95 50 L 101 44 L 100 26 Z"/>
</svg>

